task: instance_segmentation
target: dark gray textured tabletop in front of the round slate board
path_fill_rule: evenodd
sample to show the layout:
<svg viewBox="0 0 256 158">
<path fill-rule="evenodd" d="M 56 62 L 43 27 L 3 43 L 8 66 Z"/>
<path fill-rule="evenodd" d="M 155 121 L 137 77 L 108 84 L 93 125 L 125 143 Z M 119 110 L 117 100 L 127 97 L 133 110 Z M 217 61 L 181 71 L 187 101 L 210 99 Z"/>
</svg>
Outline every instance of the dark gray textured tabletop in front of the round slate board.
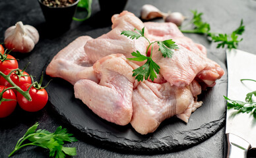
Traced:
<svg viewBox="0 0 256 158">
<path fill-rule="evenodd" d="M 104 146 L 104 144 L 95 144 L 94 140 L 90 138 L 84 138 L 79 134 L 79 131 L 65 126 L 65 123 L 59 122 L 58 117 L 52 117 L 55 113 L 48 112 L 51 111 L 51 108 L 48 107 L 42 111 L 43 114 L 38 114 L 39 116 L 29 115 L 28 117 L 32 119 L 22 119 L 22 115 L 19 117 L 21 119 L 15 123 L 13 120 L 12 124 L 1 123 L 1 148 L 0 148 L 0 157 L 7 157 L 7 155 L 13 150 L 13 147 L 16 144 L 16 141 L 26 132 L 26 129 L 29 126 L 32 126 L 34 122 L 40 122 L 39 128 L 46 128 L 49 131 L 53 132 L 59 124 L 68 128 L 69 132 L 75 134 L 79 139 L 79 142 L 73 144 L 68 144 L 69 146 L 75 146 L 78 149 L 77 157 L 221 157 L 223 152 L 222 140 L 224 140 L 224 128 L 212 136 L 209 140 L 184 149 L 174 153 L 162 153 L 158 155 L 136 155 L 131 152 L 124 153 L 117 150 L 113 151 L 108 149 L 109 147 Z M 22 111 L 16 111 L 22 113 Z M 26 113 L 23 113 L 23 115 Z M 49 117 L 51 116 L 51 117 Z M 28 123 L 29 122 L 29 123 Z M 106 149 L 107 148 L 107 149 Z M 13 157 L 48 157 L 48 153 L 44 149 L 39 149 L 38 147 L 26 147 L 16 153 Z"/>
</svg>

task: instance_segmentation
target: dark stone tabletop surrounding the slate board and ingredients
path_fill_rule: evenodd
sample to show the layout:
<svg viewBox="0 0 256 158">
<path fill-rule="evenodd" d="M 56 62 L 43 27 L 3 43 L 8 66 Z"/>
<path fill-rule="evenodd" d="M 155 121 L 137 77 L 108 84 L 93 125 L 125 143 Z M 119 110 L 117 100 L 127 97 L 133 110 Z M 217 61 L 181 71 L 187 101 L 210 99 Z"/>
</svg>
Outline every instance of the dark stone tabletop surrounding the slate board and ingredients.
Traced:
<svg viewBox="0 0 256 158">
<path fill-rule="evenodd" d="M 188 18 L 191 18 L 190 11 L 197 9 L 199 12 L 204 13 L 203 18 L 210 23 L 212 32 L 232 32 L 232 30 L 239 26 L 240 20 L 243 18 L 245 32 L 242 36 L 243 41 L 241 41 L 238 48 L 243 51 L 249 51 L 250 53 L 256 53 L 255 0 L 129 0 L 125 10 L 131 11 L 136 16 L 140 16 L 140 9 L 146 3 L 156 6 L 165 13 L 168 11 L 179 11 Z M 18 61 L 20 68 L 30 62 L 27 72 L 33 72 L 36 78 L 40 78 L 42 70 L 45 70 L 48 65 L 48 63 L 45 62 L 38 62 L 40 59 L 44 59 L 42 61 L 50 61 L 53 54 L 57 53 L 78 36 L 88 35 L 92 36 L 92 38 L 96 38 L 102 33 L 111 30 L 110 20 L 104 18 L 99 11 L 100 7 L 98 1 L 93 1 L 92 17 L 90 20 L 86 20 L 85 22 L 73 21 L 70 30 L 54 37 L 49 33 L 51 30 L 45 29 L 44 15 L 42 14 L 38 1 L 1 0 L 0 43 L 4 40 L 5 30 L 18 21 L 35 26 L 40 32 L 40 41 L 34 50 L 31 53 L 22 55 L 13 53 L 13 56 L 20 59 L 20 61 Z M 208 51 L 214 53 L 220 61 L 226 63 L 225 50 L 216 49 L 216 44 L 210 43 L 205 36 L 197 34 L 187 34 L 186 36 L 192 38 L 193 41 L 197 43 L 205 45 Z M 57 126 L 61 125 L 67 128 L 69 132 L 75 134 L 79 142 L 67 145 L 77 147 L 77 157 L 223 157 L 224 155 L 224 127 L 205 142 L 189 147 L 189 149 L 158 155 L 138 155 L 125 151 L 117 151 L 115 147 L 106 146 L 95 142 L 91 138 L 84 137 L 78 130 L 72 128 L 68 123 L 63 122 L 61 117 L 53 110 L 52 105 L 48 103 L 42 111 L 36 113 L 26 113 L 17 106 L 11 116 L 0 119 L 0 157 L 7 157 L 13 150 L 13 147 L 15 147 L 18 139 L 21 138 L 26 130 L 35 122 L 40 122 L 39 128 L 44 128 L 51 132 L 53 132 Z M 40 149 L 40 147 L 25 147 L 18 151 L 13 157 L 48 157 L 48 151 Z"/>
</svg>

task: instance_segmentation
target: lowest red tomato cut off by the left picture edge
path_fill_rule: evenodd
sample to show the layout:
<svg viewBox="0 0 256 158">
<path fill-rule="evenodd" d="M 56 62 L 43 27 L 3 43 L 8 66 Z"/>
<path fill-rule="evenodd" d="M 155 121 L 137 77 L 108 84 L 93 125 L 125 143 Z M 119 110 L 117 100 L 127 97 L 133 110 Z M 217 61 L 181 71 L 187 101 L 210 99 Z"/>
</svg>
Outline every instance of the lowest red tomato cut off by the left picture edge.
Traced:
<svg viewBox="0 0 256 158">
<path fill-rule="evenodd" d="M 5 86 L 0 86 L 0 92 L 3 91 L 3 88 Z M 6 92 L 3 93 L 3 98 L 5 99 L 13 99 L 12 101 L 2 101 L 0 104 L 0 118 L 7 117 L 15 111 L 16 107 L 16 95 L 13 92 L 13 90 L 7 90 Z"/>
</svg>

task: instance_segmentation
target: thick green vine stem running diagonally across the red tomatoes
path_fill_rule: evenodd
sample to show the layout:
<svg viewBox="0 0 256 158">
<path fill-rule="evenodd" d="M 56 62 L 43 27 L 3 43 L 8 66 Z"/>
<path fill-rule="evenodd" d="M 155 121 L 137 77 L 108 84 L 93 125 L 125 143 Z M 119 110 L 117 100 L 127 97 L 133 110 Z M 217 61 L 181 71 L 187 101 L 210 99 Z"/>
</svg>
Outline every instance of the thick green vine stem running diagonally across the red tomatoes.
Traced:
<svg viewBox="0 0 256 158">
<path fill-rule="evenodd" d="M 7 74 L 7 75 L 5 75 L 3 72 L 0 71 L 0 75 L 1 75 L 3 78 L 5 78 L 5 80 L 7 80 L 7 82 L 9 82 L 9 83 L 11 84 L 11 86 L 13 86 L 13 87 L 15 88 L 15 90 L 16 90 L 18 93 L 21 93 L 28 101 L 31 101 L 32 98 L 31 98 L 31 96 L 30 96 L 29 93 L 28 93 L 30 89 L 28 89 L 26 92 L 24 92 L 24 91 L 21 90 L 21 88 L 18 87 L 18 86 L 11 80 L 11 78 L 10 78 L 11 73 L 15 72 L 16 70 L 20 70 L 20 69 L 16 68 L 16 69 L 14 69 L 14 70 L 11 70 L 11 72 L 10 72 L 9 74 Z"/>
</svg>

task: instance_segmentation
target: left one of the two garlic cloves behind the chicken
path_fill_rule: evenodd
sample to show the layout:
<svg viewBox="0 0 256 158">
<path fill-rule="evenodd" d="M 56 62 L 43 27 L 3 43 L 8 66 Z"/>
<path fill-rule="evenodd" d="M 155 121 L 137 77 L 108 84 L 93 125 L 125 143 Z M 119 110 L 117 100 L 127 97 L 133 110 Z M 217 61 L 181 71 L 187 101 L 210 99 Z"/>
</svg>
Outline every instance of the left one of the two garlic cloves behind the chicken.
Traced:
<svg viewBox="0 0 256 158">
<path fill-rule="evenodd" d="M 166 13 L 162 13 L 153 5 L 143 5 L 143 7 L 141 7 L 141 18 L 144 20 L 162 18 L 163 16 L 166 16 Z"/>
</svg>

